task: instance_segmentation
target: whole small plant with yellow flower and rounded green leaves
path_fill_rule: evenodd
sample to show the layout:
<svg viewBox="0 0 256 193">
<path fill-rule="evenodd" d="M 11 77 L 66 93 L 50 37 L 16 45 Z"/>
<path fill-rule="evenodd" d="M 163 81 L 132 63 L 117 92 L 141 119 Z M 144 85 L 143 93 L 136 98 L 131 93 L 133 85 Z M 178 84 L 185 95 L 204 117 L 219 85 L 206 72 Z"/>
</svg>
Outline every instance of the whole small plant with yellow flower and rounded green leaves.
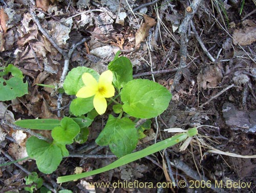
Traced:
<svg viewBox="0 0 256 193">
<path fill-rule="evenodd" d="M 70 105 L 71 117 L 15 122 L 24 128 L 52 130 L 52 141 L 32 136 L 26 143 L 28 155 L 36 160 L 39 171 L 54 172 L 62 157 L 69 155 L 66 144 L 86 142 L 93 119 L 105 113 L 108 107 L 112 107 L 114 114 L 109 114 L 96 143 L 109 146 L 118 158 L 134 151 L 138 140 L 145 137 L 143 131 L 151 127 L 150 118 L 168 107 L 172 94 L 156 82 L 133 80 L 131 61 L 118 55 L 101 75 L 87 67 L 76 67 L 69 72 L 63 88 L 67 94 L 77 96 Z M 112 103 L 115 104 L 111 106 Z M 141 118 L 147 120 L 136 128 Z M 176 143 L 180 141 L 176 140 Z"/>
</svg>

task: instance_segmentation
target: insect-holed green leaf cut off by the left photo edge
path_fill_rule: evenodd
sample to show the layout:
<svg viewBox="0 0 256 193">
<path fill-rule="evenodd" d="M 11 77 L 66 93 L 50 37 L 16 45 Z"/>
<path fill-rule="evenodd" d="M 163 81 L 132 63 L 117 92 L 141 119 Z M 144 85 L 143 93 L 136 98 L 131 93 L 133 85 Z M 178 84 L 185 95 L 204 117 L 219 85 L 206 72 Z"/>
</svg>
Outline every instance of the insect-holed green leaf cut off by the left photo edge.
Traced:
<svg viewBox="0 0 256 193">
<path fill-rule="evenodd" d="M 0 101 L 13 100 L 28 93 L 28 83 L 23 82 L 22 71 L 12 64 L 2 69 L 4 70 L 0 73 Z M 11 73 L 12 78 L 6 80 L 3 76 L 8 73 Z"/>
</svg>

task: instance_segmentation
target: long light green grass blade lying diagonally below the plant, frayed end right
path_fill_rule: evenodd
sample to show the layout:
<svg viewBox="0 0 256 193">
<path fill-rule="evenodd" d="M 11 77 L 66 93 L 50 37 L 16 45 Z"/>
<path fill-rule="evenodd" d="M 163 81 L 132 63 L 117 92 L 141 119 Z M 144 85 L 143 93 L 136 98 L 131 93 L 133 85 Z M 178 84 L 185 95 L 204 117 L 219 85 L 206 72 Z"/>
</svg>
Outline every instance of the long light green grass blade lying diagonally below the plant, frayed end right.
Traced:
<svg viewBox="0 0 256 193">
<path fill-rule="evenodd" d="M 104 167 L 101 167 L 97 170 L 86 172 L 86 173 L 81 173 L 81 174 L 58 177 L 57 178 L 57 183 L 63 183 L 63 182 L 68 182 L 68 181 L 72 181 L 72 180 L 76 180 L 76 179 L 80 179 L 80 178 L 85 178 L 85 177 L 88 177 L 88 176 L 92 176 L 92 175 L 95 175 L 95 174 L 99 174 L 99 173 L 102 173 L 102 172 L 112 170 L 116 167 L 119 167 L 119 166 L 125 165 L 127 163 L 133 162 L 137 159 L 140 159 L 140 158 L 143 158 L 145 156 L 154 154 L 154 153 L 156 153 L 158 151 L 161 151 L 165 148 L 168 148 L 170 146 L 174 146 L 178 142 L 185 140 L 188 136 L 192 137 L 196 134 L 197 134 L 197 129 L 192 128 L 187 133 L 181 133 L 181 134 L 175 135 L 171 138 L 168 138 L 168 139 L 160 141 L 156 144 L 153 144 L 152 146 L 150 146 L 148 148 L 145 148 L 144 150 L 125 155 L 125 156 L 121 157 L 120 159 L 114 161 L 113 163 L 111 163 L 109 165 L 106 165 Z"/>
</svg>

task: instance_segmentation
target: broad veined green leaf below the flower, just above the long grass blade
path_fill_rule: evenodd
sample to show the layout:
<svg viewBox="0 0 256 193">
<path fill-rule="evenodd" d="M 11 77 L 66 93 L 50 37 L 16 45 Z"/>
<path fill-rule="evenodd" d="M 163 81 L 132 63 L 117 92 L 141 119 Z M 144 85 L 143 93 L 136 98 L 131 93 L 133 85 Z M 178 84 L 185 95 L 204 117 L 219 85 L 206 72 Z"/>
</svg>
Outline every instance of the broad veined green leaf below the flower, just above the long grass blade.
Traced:
<svg viewBox="0 0 256 193">
<path fill-rule="evenodd" d="M 109 145 L 117 157 L 130 154 L 138 143 L 135 123 L 129 118 L 116 118 L 110 114 L 108 122 L 95 142 L 100 146 Z"/>
</svg>

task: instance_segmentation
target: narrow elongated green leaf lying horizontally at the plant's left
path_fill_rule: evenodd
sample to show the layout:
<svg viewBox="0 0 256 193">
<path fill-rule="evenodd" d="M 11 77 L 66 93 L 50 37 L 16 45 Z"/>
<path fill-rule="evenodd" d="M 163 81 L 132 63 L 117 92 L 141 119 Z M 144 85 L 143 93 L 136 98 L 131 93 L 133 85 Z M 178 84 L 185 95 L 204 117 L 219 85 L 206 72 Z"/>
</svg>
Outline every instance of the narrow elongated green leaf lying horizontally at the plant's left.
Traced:
<svg viewBox="0 0 256 193">
<path fill-rule="evenodd" d="M 53 130 L 54 127 L 60 125 L 58 119 L 24 119 L 17 120 L 15 125 L 27 129 Z"/>
</svg>

